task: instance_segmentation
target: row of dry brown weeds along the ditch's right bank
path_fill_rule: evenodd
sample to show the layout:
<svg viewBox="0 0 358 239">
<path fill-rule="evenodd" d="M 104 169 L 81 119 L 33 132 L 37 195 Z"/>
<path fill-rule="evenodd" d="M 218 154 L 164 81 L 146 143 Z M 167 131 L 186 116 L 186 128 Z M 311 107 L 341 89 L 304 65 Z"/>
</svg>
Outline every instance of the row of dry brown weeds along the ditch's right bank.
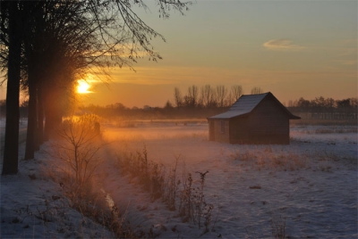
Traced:
<svg viewBox="0 0 358 239">
<path fill-rule="evenodd" d="M 162 164 L 148 160 L 146 146 L 142 152 L 126 152 L 117 155 L 117 167 L 121 172 L 137 177 L 152 199 L 161 198 L 166 203 L 168 210 L 179 210 L 179 216 L 183 221 L 192 221 L 199 228 L 205 227 L 209 231 L 212 210 L 214 206 L 205 201 L 205 178 L 209 171 L 200 175 L 200 180 L 194 182 L 192 174 L 186 177 L 185 164 L 183 162 L 183 181 L 178 179 L 177 167 L 180 155 L 175 156 L 175 164 L 168 170 Z M 182 190 L 179 186 L 182 185 Z"/>
</svg>

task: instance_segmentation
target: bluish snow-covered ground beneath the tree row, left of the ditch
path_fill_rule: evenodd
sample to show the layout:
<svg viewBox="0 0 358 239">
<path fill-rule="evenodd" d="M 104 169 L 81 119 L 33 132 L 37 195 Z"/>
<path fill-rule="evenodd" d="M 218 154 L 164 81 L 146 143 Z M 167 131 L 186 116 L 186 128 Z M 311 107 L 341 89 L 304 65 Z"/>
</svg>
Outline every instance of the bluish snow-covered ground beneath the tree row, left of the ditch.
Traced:
<svg viewBox="0 0 358 239">
<path fill-rule="evenodd" d="M 41 177 L 46 147 L 34 160 L 21 160 L 17 175 L 1 177 L 1 238 L 111 238 L 106 228 L 69 207 L 59 184 Z M 23 159 L 23 144 L 20 151 Z"/>
</svg>

